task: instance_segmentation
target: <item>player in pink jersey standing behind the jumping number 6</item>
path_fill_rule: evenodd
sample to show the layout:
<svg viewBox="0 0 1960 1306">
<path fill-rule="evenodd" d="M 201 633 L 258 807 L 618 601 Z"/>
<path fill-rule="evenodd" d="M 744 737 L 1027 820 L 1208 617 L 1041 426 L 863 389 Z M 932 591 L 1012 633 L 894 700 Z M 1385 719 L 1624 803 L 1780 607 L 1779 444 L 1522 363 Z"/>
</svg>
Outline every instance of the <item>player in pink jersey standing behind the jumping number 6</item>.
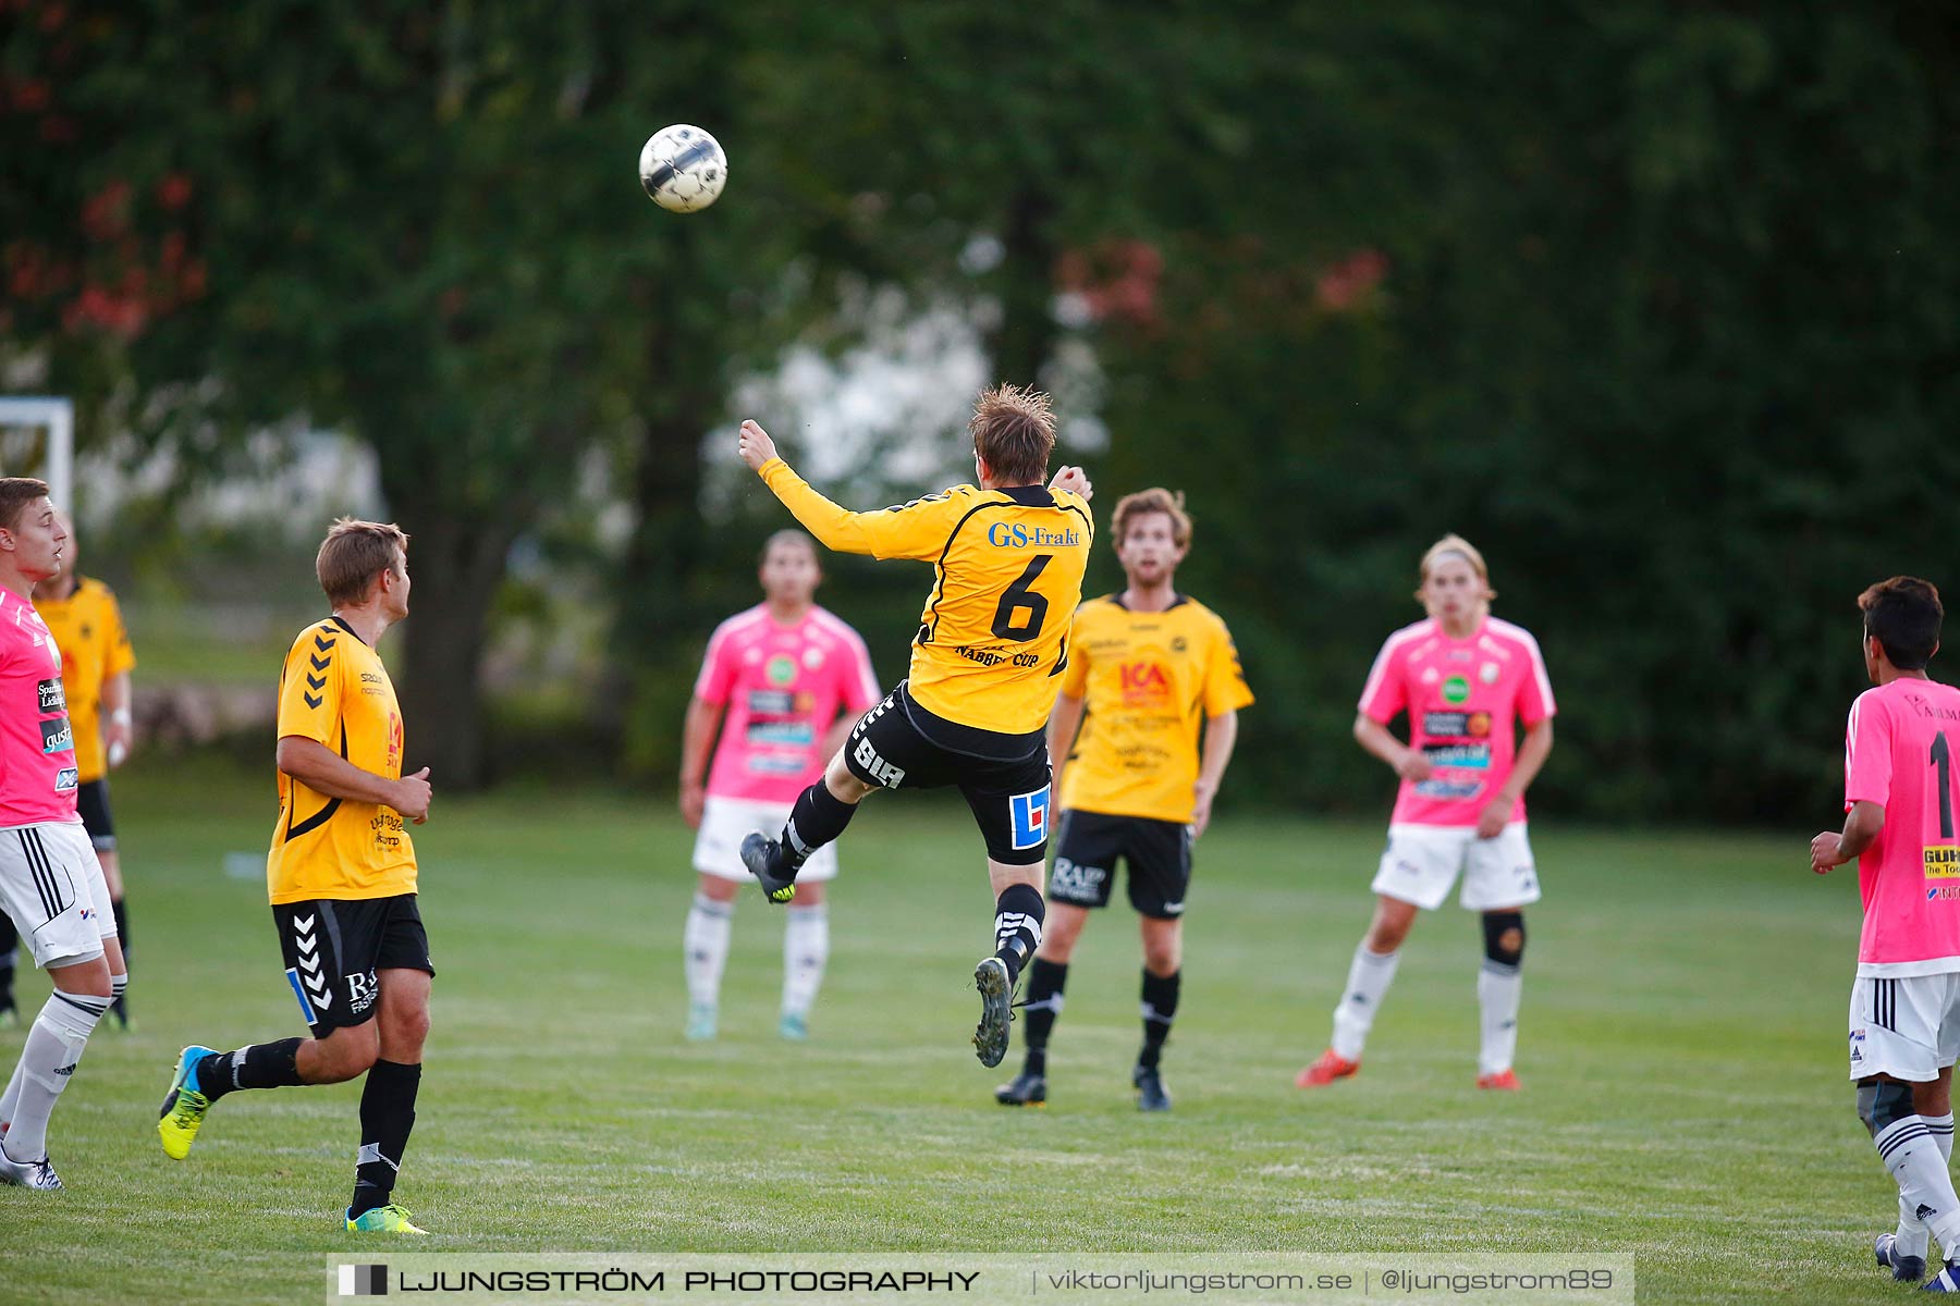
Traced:
<svg viewBox="0 0 1960 1306">
<path fill-rule="evenodd" d="M 796 795 L 823 773 L 851 724 L 884 697 L 864 640 L 815 605 L 823 572 L 808 535 L 768 536 L 759 576 L 764 601 L 723 621 L 708 640 L 680 744 L 680 815 L 700 830 L 694 842 L 700 887 L 682 936 L 694 1040 L 713 1038 L 719 1022 L 735 891 L 749 881 L 743 836 L 782 826 Z M 721 744 L 708 770 L 715 726 Z M 784 1038 L 809 1034 L 809 1006 L 831 954 L 821 881 L 835 875 L 837 850 L 825 846 L 796 881 L 806 889 L 790 905 L 782 934 Z"/>
</svg>

